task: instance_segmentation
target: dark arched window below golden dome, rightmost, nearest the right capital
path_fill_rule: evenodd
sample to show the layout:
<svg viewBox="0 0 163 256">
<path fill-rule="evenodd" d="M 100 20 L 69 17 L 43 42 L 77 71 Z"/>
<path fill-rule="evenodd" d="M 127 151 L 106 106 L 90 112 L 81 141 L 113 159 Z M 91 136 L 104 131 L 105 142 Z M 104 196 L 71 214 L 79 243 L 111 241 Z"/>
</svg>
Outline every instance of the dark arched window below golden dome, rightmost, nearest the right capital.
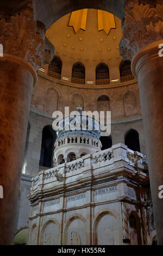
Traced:
<svg viewBox="0 0 163 256">
<path fill-rule="evenodd" d="M 135 76 L 131 71 L 130 60 L 122 60 L 120 64 L 120 76 L 121 76 L 121 82 L 126 82 L 135 78 Z"/>
</svg>

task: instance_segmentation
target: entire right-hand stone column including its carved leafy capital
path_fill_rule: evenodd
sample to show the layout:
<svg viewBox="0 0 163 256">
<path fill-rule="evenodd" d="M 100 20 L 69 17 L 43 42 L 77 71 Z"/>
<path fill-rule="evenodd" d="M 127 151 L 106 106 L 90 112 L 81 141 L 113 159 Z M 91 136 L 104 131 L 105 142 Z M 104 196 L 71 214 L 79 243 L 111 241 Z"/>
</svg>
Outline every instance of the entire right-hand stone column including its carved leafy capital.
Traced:
<svg viewBox="0 0 163 256">
<path fill-rule="evenodd" d="M 156 3 L 162 3 L 156 4 Z M 122 23 L 120 53 L 132 61 L 133 74 L 139 82 L 143 126 L 151 182 L 158 244 L 163 245 L 163 1 L 126 1 L 126 16 Z"/>
</svg>

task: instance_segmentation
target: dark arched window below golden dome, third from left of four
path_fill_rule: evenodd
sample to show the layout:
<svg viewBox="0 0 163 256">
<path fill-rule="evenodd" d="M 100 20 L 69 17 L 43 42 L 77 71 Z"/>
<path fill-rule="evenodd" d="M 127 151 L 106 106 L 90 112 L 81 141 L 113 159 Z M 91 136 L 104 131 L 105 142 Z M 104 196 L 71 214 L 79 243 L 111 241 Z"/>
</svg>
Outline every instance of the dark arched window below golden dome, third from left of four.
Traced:
<svg viewBox="0 0 163 256">
<path fill-rule="evenodd" d="M 105 63 L 99 63 L 96 67 L 96 84 L 109 83 L 109 68 Z"/>
</svg>

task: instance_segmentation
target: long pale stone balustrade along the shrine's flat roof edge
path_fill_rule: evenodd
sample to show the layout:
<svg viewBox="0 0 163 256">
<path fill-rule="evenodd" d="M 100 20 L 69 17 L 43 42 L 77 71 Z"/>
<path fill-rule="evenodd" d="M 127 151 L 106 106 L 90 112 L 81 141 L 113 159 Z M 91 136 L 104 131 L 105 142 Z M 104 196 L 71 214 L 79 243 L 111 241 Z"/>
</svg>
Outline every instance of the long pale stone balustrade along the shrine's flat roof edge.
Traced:
<svg viewBox="0 0 163 256">
<path fill-rule="evenodd" d="M 116 144 L 111 148 L 97 152 L 95 154 L 88 154 L 68 163 L 59 164 L 57 167 L 42 170 L 35 178 L 32 179 L 32 190 L 45 186 L 51 182 L 61 182 L 67 175 L 74 175 L 76 172 L 82 173 L 85 169 L 98 169 L 105 167 L 109 170 L 111 164 L 118 161 L 128 163 L 131 169 L 145 170 L 145 157 L 139 153 L 127 148 L 126 145 Z M 135 172 L 135 171 L 134 171 Z M 143 178 L 143 175 L 141 176 Z"/>
</svg>

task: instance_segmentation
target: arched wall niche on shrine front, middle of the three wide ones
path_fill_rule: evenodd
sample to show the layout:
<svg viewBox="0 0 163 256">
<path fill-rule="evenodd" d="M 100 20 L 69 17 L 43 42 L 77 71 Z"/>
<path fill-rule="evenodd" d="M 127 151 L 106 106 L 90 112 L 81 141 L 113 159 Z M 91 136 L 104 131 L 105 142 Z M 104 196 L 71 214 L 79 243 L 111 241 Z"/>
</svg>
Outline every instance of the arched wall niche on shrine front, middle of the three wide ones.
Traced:
<svg viewBox="0 0 163 256">
<path fill-rule="evenodd" d="M 65 245 L 86 245 L 86 227 L 79 217 L 73 217 L 66 224 Z"/>
</svg>

